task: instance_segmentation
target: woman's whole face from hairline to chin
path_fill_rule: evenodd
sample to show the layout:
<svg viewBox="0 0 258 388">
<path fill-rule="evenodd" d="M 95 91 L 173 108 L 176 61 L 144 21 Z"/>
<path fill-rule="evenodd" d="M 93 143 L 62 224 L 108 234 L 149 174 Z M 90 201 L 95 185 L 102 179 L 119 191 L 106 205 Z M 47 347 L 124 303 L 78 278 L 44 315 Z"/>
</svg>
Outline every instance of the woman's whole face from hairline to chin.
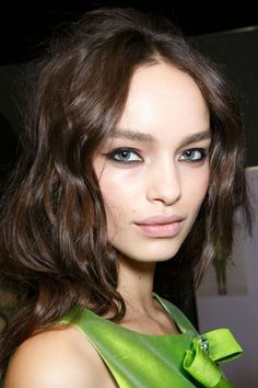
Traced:
<svg viewBox="0 0 258 388">
<path fill-rule="evenodd" d="M 116 130 L 94 158 L 108 239 L 126 258 L 174 256 L 209 184 L 210 117 L 185 72 L 163 62 L 133 75 Z"/>
</svg>

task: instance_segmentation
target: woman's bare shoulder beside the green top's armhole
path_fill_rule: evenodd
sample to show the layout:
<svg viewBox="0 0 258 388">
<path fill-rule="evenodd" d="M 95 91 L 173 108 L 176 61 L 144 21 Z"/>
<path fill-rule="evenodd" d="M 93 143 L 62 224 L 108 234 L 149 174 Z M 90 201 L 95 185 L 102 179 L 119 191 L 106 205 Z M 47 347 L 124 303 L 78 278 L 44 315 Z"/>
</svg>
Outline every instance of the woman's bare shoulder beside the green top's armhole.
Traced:
<svg viewBox="0 0 258 388">
<path fill-rule="evenodd" d="M 106 378 L 90 341 L 68 327 L 26 340 L 11 360 L 3 388 L 98 388 Z"/>
</svg>

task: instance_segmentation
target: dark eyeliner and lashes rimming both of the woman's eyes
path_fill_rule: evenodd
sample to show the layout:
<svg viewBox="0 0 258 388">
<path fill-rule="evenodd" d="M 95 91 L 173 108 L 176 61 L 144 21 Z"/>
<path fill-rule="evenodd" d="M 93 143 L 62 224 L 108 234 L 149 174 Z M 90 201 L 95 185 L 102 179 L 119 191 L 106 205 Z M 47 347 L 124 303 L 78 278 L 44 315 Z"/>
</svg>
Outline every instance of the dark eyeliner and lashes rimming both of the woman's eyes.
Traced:
<svg viewBox="0 0 258 388">
<path fill-rule="evenodd" d="M 122 152 L 127 152 L 128 155 L 134 155 L 137 157 L 137 160 L 119 160 L 116 158 L 117 155 L 121 155 Z M 200 157 L 198 159 L 180 159 L 184 155 L 189 152 L 199 152 Z M 116 148 L 112 150 L 110 152 L 104 153 L 105 157 L 110 159 L 112 161 L 116 163 L 122 163 L 122 164 L 132 164 L 132 163 L 139 163 L 143 161 L 142 157 L 139 155 L 139 151 L 134 148 Z M 204 160 L 208 156 L 208 150 L 204 148 L 190 148 L 181 152 L 179 160 L 180 161 L 186 161 L 187 163 L 198 163 Z"/>
</svg>

